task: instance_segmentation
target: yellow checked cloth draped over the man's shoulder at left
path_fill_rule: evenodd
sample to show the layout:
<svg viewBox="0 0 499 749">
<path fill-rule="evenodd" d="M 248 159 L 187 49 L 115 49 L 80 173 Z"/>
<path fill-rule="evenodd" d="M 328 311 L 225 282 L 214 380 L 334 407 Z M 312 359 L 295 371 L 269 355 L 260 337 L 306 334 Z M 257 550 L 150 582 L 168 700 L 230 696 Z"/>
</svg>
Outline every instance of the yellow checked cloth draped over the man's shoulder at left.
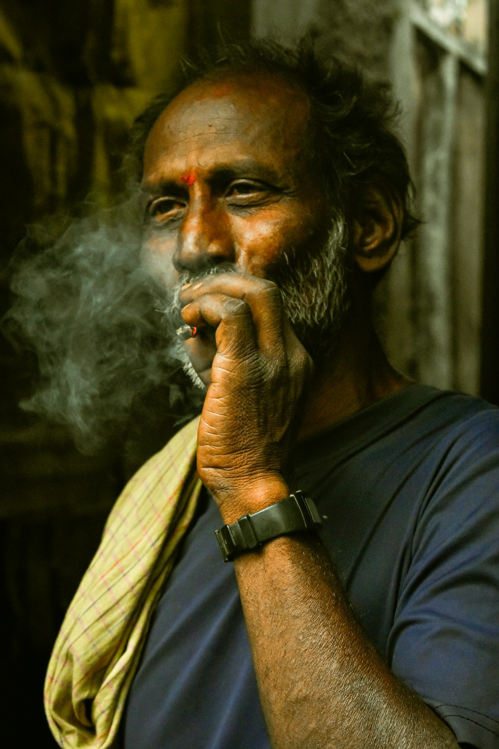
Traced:
<svg viewBox="0 0 499 749">
<path fill-rule="evenodd" d="M 45 709 L 64 748 L 111 747 L 155 604 L 201 488 L 198 419 L 126 485 L 64 619 Z"/>
</svg>

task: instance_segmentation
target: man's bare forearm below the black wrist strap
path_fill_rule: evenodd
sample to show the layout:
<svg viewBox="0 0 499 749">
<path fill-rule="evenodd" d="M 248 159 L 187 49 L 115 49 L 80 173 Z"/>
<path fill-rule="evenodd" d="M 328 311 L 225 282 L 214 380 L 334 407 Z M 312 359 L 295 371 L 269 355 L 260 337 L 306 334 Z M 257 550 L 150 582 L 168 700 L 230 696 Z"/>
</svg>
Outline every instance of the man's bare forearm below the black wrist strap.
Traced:
<svg viewBox="0 0 499 749">
<path fill-rule="evenodd" d="M 274 539 L 235 566 L 275 748 L 457 748 L 364 636 L 318 539 Z"/>
</svg>

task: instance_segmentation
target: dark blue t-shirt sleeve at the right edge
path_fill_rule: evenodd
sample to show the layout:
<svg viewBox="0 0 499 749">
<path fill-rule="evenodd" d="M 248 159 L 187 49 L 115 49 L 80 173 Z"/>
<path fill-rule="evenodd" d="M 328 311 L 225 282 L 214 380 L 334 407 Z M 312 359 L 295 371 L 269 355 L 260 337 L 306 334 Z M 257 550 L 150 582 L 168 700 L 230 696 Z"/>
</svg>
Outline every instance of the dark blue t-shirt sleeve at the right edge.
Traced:
<svg viewBox="0 0 499 749">
<path fill-rule="evenodd" d="M 459 429 L 430 482 L 388 639 L 394 673 L 460 745 L 499 749 L 499 418 Z"/>
</svg>

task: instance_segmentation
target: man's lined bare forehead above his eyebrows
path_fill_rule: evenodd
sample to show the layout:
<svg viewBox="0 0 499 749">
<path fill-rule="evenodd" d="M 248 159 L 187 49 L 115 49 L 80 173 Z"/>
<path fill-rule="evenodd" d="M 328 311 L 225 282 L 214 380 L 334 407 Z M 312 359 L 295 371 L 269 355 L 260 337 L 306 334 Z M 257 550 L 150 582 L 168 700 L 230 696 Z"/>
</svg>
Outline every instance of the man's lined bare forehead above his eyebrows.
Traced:
<svg viewBox="0 0 499 749">
<path fill-rule="evenodd" d="M 304 168 L 308 103 L 282 76 L 255 73 L 197 82 L 159 115 L 147 138 L 144 178 L 255 159 L 278 172 Z"/>
</svg>

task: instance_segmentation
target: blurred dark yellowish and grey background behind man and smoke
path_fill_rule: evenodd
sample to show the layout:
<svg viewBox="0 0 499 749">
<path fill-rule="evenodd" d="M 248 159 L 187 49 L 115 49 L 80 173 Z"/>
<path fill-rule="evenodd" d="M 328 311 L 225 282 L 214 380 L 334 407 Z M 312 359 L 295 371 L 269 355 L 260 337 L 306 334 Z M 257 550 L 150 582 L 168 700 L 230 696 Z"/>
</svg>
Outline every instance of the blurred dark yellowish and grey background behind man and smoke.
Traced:
<svg viewBox="0 0 499 749">
<path fill-rule="evenodd" d="M 486 210 L 497 213 L 497 169 L 484 169 L 497 141 L 486 140 L 486 119 L 497 116 L 488 104 L 486 16 L 486 0 L 4 0 L 2 312 L 9 258 L 26 226 L 61 221 L 89 191 L 100 204 L 111 199 L 126 132 L 174 82 L 181 55 L 220 34 L 290 41 L 308 33 L 326 53 L 390 80 L 402 102 L 423 225 L 379 288 L 391 360 L 423 382 L 497 399 L 497 263 L 483 229 Z M 495 9 L 491 18 L 497 26 Z M 111 503 L 156 445 L 79 455 L 64 429 L 19 410 L 34 363 L 6 341 L 0 347 L 0 704 L 4 721 L 28 736 L 16 745 L 43 749 L 55 745 L 41 694 L 58 626 Z"/>
</svg>

